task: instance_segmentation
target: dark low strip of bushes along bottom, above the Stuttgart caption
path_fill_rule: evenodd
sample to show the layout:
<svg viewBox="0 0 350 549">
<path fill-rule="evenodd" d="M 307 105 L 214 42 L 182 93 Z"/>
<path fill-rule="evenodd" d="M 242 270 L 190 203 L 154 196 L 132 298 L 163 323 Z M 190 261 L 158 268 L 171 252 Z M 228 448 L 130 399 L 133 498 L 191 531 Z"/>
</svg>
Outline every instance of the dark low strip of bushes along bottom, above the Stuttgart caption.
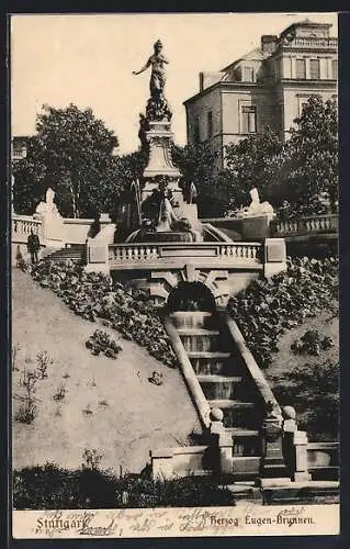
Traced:
<svg viewBox="0 0 350 549">
<path fill-rule="evenodd" d="M 75 471 L 47 463 L 13 471 L 13 506 L 35 508 L 196 507 L 234 505 L 227 489 L 212 477 L 154 482 L 125 474 L 117 479 L 97 468 Z"/>
</svg>

